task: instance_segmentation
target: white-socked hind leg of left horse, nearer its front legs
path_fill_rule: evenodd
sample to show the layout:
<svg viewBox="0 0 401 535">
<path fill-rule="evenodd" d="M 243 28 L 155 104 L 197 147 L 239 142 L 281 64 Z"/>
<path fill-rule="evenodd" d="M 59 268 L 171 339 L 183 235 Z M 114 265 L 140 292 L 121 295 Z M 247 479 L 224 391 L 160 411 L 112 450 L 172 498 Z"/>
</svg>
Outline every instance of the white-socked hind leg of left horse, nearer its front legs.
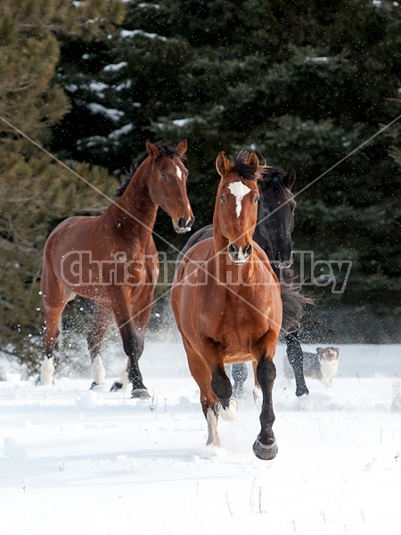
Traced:
<svg viewBox="0 0 401 535">
<path fill-rule="evenodd" d="M 91 388 L 104 383 L 106 378 L 106 370 L 102 364 L 102 357 L 100 356 L 100 350 L 102 348 L 102 342 L 104 336 L 109 330 L 112 322 L 113 315 L 110 309 L 106 309 L 101 305 L 98 306 L 97 316 L 94 320 L 94 326 L 92 331 L 87 335 L 87 346 L 89 349 L 89 355 L 91 357 L 91 374 L 93 383 Z"/>
</svg>

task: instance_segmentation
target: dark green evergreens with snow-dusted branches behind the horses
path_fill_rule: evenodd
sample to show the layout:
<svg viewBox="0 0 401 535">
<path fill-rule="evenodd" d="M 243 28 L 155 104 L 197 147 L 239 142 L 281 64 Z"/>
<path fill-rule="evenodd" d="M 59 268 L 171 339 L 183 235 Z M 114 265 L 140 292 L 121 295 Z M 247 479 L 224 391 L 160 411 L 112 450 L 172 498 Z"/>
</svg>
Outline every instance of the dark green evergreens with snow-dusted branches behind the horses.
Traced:
<svg viewBox="0 0 401 535">
<path fill-rule="evenodd" d="M 308 185 L 399 114 L 400 6 L 162 0 L 127 7 L 122 27 L 93 49 L 64 43 L 59 77 L 73 104 L 61 124 L 65 148 L 119 174 L 145 138 L 188 136 L 201 226 L 211 220 L 217 152 L 251 146 L 298 171 L 305 191 L 296 249 L 353 261 L 343 299 L 380 302 L 387 290 L 399 300 L 395 130 Z M 82 117 L 85 127 L 73 136 Z"/>
</svg>

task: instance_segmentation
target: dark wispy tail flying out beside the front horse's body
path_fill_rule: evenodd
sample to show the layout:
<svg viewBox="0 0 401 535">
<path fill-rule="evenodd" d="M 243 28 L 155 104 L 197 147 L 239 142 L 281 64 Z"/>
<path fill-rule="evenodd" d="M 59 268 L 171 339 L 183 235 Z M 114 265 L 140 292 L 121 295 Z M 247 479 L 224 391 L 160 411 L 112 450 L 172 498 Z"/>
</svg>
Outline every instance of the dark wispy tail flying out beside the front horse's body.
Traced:
<svg viewBox="0 0 401 535">
<path fill-rule="evenodd" d="M 304 305 L 314 305 L 315 300 L 300 293 L 300 286 L 290 281 L 280 284 L 282 294 L 282 334 L 299 330 Z"/>
</svg>

